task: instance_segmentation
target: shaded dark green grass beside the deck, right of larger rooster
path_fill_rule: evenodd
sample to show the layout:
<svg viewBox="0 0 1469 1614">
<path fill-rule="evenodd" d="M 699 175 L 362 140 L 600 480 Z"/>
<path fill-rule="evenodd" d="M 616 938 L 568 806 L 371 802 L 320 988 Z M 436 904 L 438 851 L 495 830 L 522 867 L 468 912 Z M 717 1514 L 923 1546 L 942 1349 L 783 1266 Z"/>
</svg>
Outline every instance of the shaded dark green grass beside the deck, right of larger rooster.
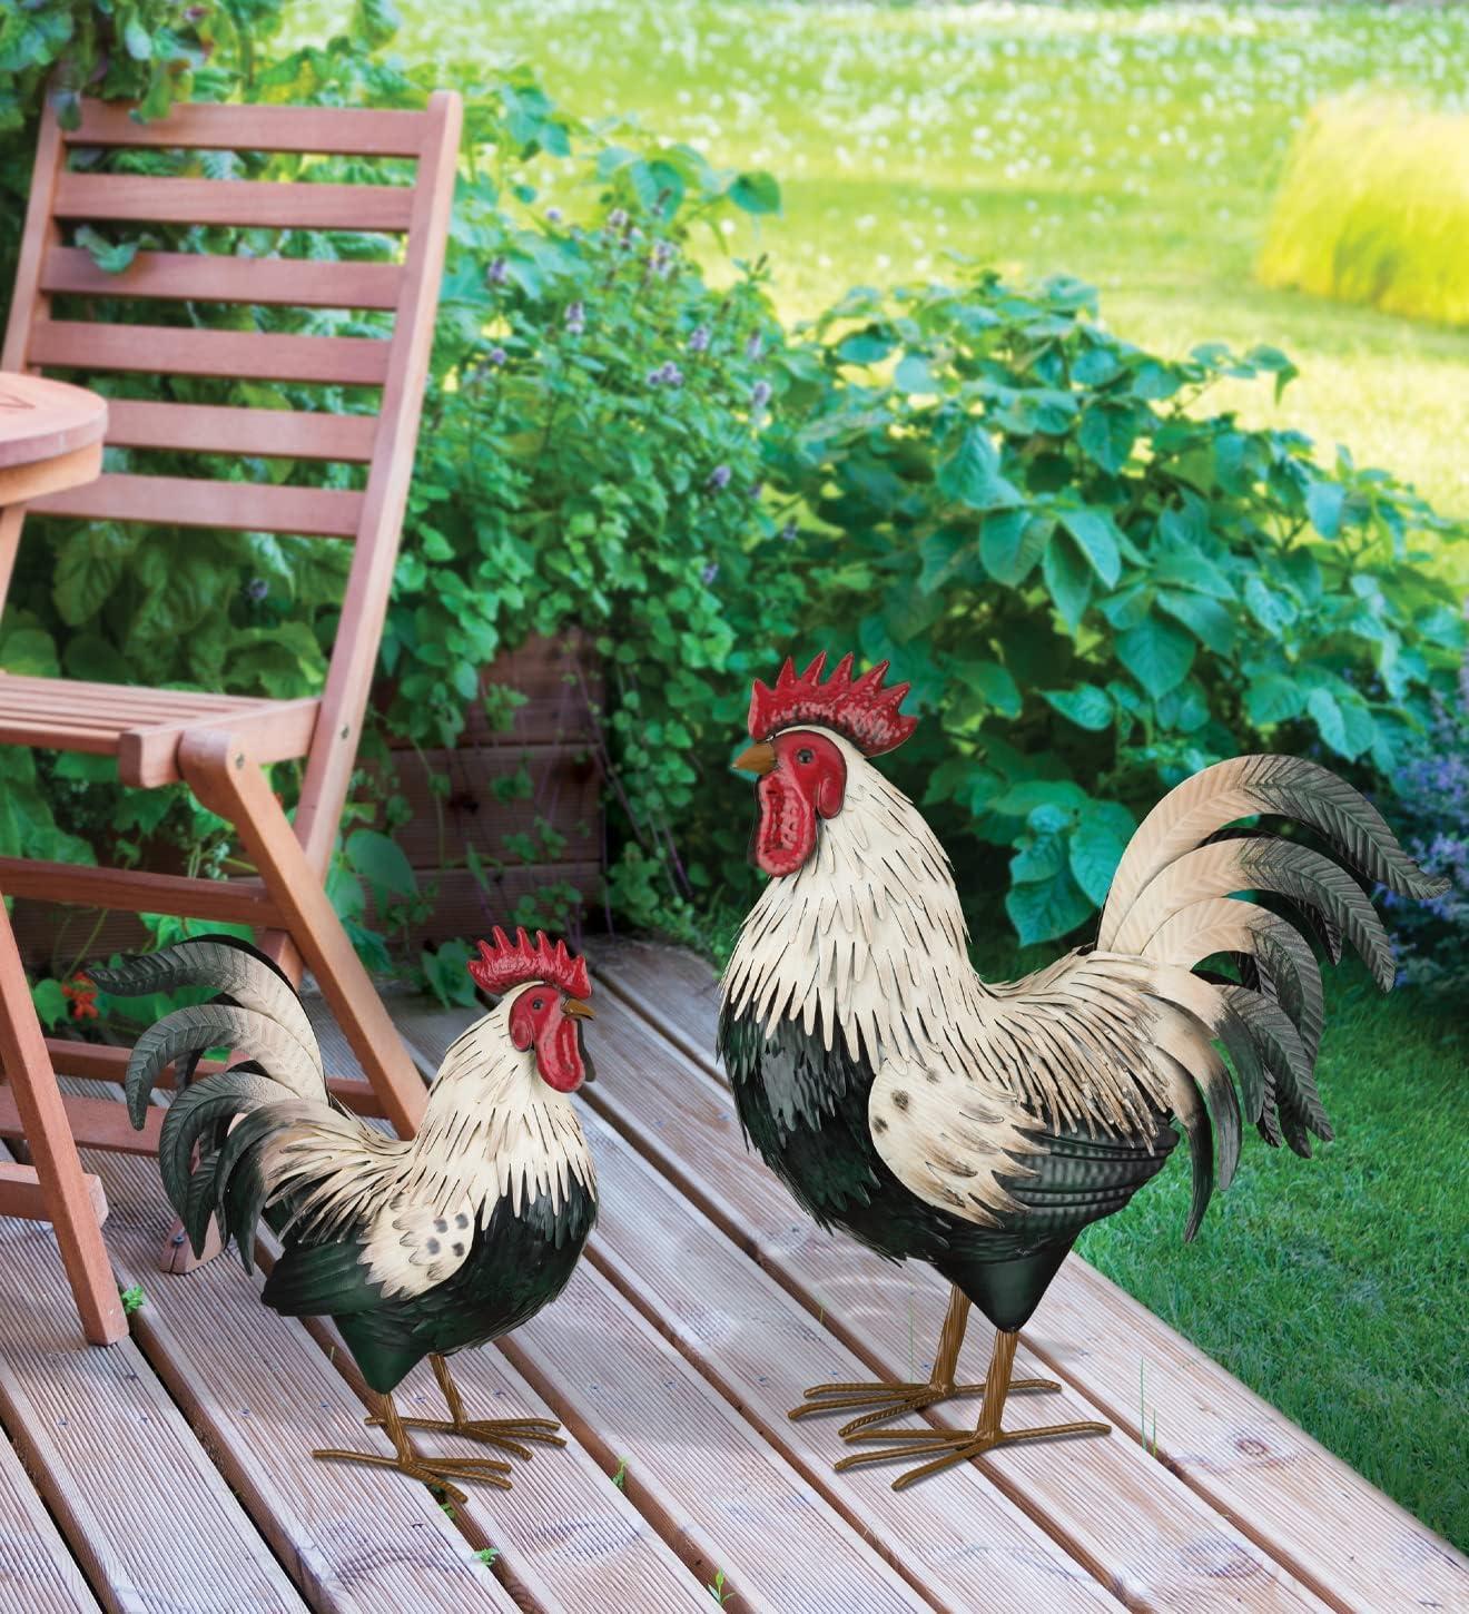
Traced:
<svg viewBox="0 0 1469 1614">
<path fill-rule="evenodd" d="M 1188 1170 L 1170 1167 L 1080 1246 L 1459 1546 L 1469 1545 L 1466 1065 L 1463 1012 L 1419 991 L 1382 999 L 1364 972 L 1343 970 L 1317 1067 L 1335 1141 L 1301 1160 L 1251 1133 L 1193 1244 L 1180 1238 Z"/>
</svg>

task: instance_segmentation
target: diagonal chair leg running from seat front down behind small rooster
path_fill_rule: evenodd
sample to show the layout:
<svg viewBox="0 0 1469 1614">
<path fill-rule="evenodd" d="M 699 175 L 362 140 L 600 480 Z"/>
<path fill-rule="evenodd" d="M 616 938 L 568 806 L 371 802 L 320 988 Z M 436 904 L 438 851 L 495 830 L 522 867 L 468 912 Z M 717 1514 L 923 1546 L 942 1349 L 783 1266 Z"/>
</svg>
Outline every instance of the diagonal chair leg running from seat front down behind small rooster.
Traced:
<svg viewBox="0 0 1469 1614">
<path fill-rule="evenodd" d="M 286 917 L 291 941 L 316 976 L 342 1033 L 400 1136 L 423 1115 L 426 1089 L 371 976 L 336 917 L 260 765 L 223 730 L 186 734 L 179 767 L 205 807 L 239 831 L 260 878 Z"/>
</svg>

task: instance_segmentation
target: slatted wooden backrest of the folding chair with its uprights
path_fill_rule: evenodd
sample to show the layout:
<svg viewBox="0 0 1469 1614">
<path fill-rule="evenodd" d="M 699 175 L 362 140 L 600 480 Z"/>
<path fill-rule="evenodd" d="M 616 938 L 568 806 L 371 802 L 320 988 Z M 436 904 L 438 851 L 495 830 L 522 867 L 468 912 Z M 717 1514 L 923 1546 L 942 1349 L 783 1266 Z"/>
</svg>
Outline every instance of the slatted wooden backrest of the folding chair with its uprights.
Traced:
<svg viewBox="0 0 1469 1614">
<path fill-rule="evenodd" d="M 47 110 L 36 150 L 0 358 L 6 368 L 381 387 L 376 415 L 111 400 L 110 445 L 366 463 L 362 492 L 113 471 L 31 507 L 81 518 L 355 539 L 295 812 L 297 836 L 323 872 L 350 783 L 392 586 L 460 123 L 460 100 L 444 90 L 431 95 L 423 111 L 186 105 L 153 123 L 134 121 L 126 107 L 84 100 L 73 131 L 60 128 L 55 108 Z M 73 147 L 416 158 L 416 173 L 412 186 L 71 173 L 66 161 Z M 68 245 L 58 221 L 342 229 L 402 234 L 405 240 L 402 263 L 139 252 L 121 274 L 105 274 L 87 253 Z M 392 334 L 297 336 L 58 320 L 52 307 L 56 295 L 381 310 L 392 315 Z M 0 513 L 0 605 L 23 518 L 19 508 Z"/>
</svg>

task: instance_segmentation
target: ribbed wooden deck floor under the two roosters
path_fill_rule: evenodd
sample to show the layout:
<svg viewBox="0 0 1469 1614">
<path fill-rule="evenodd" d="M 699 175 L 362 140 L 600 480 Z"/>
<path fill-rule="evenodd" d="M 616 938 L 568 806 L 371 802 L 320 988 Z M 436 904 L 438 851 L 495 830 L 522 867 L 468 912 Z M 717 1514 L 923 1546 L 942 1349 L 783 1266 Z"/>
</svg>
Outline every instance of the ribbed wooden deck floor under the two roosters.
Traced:
<svg viewBox="0 0 1469 1614">
<path fill-rule="evenodd" d="M 786 1409 L 818 1380 L 925 1374 L 943 1285 L 822 1235 L 746 1154 L 701 964 L 634 943 L 594 957 L 589 1259 L 529 1327 L 455 1359 L 475 1407 L 549 1412 L 567 1449 L 454 1516 L 407 1480 L 312 1462 L 379 1438 L 329 1327 L 266 1311 L 232 1257 L 161 1275 L 155 1165 L 89 1154 L 118 1282 L 147 1301 L 129 1340 L 84 1346 L 50 1228 L 0 1220 L 0 1611 L 657 1614 L 709 1609 L 720 1570 L 738 1614 L 1469 1609 L 1463 1558 L 1075 1259 L 1017 1362 L 1065 1390 L 1014 1411 L 1101 1415 L 1112 1436 L 902 1495 L 881 1469 L 833 1474 L 836 1420 Z M 394 1017 L 429 1072 L 470 1018 Z M 328 1068 L 354 1073 L 318 1027 Z M 978 1377 L 983 1327 L 965 1351 Z M 437 1414 L 434 1396 L 426 1367 L 405 1385 Z"/>
</svg>

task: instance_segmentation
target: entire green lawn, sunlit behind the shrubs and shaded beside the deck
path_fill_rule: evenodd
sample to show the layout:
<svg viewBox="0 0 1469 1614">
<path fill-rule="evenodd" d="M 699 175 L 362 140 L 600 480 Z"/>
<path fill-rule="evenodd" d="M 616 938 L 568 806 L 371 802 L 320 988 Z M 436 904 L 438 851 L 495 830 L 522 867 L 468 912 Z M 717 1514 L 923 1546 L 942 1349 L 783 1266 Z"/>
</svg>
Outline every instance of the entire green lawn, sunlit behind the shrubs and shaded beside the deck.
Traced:
<svg viewBox="0 0 1469 1614">
<path fill-rule="evenodd" d="M 1306 108 L 1358 84 L 1463 105 L 1466 10 L 400 6 L 412 58 L 523 58 L 573 111 L 636 113 L 718 166 L 773 169 L 785 216 L 728 247 L 772 253 L 789 315 L 849 284 L 941 274 L 948 250 L 1017 276 L 1065 270 L 1099 284 L 1111 323 L 1149 345 L 1283 347 L 1303 374 L 1280 421 L 1469 515 L 1469 331 L 1251 279 Z M 341 10 L 307 8 L 297 26 L 316 32 Z M 1261 421 L 1275 408 L 1264 389 L 1232 402 Z M 1311 1162 L 1254 1141 L 1188 1248 L 1186 1170 L 1170 1170 L 1086 1254 L 1466 1543 L 1461 1022 L 1421 994 L 1383 1002 L 1348 973 L 1320 1067 L 1337 1141 Z"/>
</svg>

